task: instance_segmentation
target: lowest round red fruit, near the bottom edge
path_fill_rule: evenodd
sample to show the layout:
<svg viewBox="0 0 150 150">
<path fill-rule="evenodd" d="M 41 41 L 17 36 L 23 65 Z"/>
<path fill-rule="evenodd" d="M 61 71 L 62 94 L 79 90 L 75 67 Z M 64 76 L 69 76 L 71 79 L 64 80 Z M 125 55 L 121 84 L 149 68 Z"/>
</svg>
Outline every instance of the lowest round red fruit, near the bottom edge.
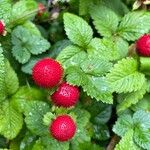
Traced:
<svg viewBox="0 0 150 150">
<path fill-rule="evenodd" d="M 52 121 L 49 130 L 56 140 L 65 142 L 75 135 L 76 123 L 69 115 L 61 115 Z"/>
</svg>

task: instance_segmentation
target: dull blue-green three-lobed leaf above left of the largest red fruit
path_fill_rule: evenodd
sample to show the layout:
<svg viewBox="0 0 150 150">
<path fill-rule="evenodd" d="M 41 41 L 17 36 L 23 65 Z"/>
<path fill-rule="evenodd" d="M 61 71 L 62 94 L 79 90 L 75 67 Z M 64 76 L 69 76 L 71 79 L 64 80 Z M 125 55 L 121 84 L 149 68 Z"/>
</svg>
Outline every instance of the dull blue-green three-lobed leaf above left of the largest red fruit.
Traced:
<svg viewBox="0 0 150 150">
<path fill-rule="evenodd" d="M 18 26 L 12 32 L 12 53 L 22 64 L 28 62 L 31 54 L 37 55 L 50 48 L 50 43 L 41 36 L 32 34 L 30 30 Z"/>
</svg>

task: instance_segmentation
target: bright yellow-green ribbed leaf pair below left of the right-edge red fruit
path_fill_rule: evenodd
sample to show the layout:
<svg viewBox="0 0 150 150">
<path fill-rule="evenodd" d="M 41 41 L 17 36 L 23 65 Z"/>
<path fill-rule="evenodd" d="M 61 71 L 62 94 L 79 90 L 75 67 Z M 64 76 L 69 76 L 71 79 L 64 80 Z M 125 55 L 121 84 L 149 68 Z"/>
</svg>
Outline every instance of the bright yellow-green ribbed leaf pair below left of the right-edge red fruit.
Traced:
<svg viewBox="0 0 150 150">
<path fill-rule="evenodd" d="M 137 60 L 129 57 L 118 61 L 107 79 L 112 90 L 118 93 L 138 91 L 146 82 L 144 74 L 138 72 Z"/>
</svg>

